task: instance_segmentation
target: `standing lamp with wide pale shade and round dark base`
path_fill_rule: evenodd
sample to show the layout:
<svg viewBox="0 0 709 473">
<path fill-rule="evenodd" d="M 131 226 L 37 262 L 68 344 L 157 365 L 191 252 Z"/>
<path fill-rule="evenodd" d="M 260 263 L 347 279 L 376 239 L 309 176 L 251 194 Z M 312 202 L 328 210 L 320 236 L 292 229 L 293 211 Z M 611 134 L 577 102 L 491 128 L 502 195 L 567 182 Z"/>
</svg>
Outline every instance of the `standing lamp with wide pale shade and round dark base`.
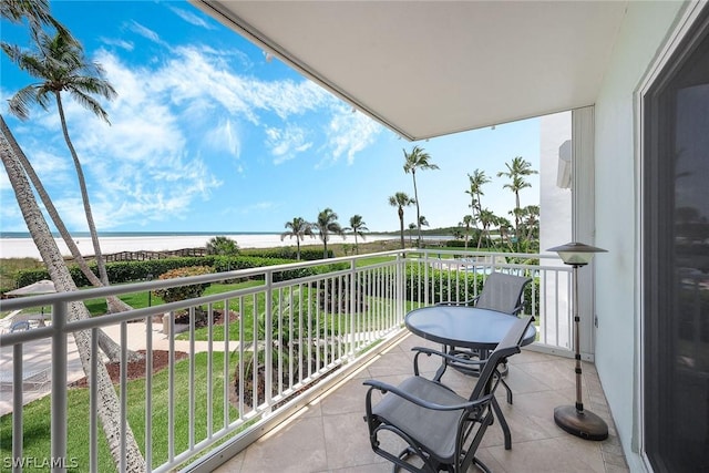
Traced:
<svg viewBox="0 0 709 473">
<path fill-rule="evenodd" d="M 579 343 L 579 311 L 578 311 L 578 268 L 588 265 L 596 253 L 606 253 L 605 249 L 572 241 L 566 245 L 549 248 L 547 251 L 555 251 L 559 258 L 569 266 L 574 273 L 574 349 L 576 354 L 576 405 L 559 405 L 554 409 L 554 422 L 572 435 L 585 440 L 606 440 L 608 438 L 608 425 L 598 415 L 584 410 L 580 391 L 580 343 Z"/>
</svg>

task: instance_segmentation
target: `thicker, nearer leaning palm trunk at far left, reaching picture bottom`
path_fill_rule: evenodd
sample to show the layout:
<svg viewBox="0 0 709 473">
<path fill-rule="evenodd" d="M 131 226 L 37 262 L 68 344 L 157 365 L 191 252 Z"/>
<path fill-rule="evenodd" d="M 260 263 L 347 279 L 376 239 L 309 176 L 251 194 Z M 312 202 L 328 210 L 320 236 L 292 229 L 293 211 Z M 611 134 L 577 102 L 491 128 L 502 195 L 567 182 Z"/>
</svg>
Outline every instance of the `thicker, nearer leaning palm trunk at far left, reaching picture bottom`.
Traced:
<svg viewBox="0 0 709 473">
<path fill-rule="evenodd" d="M 27 223 L 32 239 L 37 244 L 42 260 L 47 266 L 52 281 L 58 291 L 76 290 L 69 269 L 64 265 L 64 260 L 59 251 L 59 247 L 52 237 L 52 234 L 44 220 L 42 212 L 34 199 L 32 188 L 27 175 L 20 164 L 20 161 L 12 153 L 9 141 L 6 137 L 4 130 L 0 136 L 0 157 L 8 173 L 8 178 L 14 191 L 16 198 L 22 212 L 22 217 Z M 69 308 L 69 320 L 88 319 L 89 310 L 83 304 L 72 302 Z M 86 330 L 74 332 L 76 349 L 81 359 L 84 373 L 97 388 L 97 405 L 99 418 L 103 425 L 103 431 L 109 442 L 109 449 L 116 465 L 125 461 L 126 471 L 143 472 L 145 471 L 145 460 L 135 442 L 133 431 L 129 425 L 125 429 L 125 459 L 121 455 L 121 419 L 119 419 L 120 402 L 115 389 L 111 382 L 111 378 L 102 363 L 97 364 L 96 372 L 91 370 L 91 359 L 95 353 L 91 351 L 91 337 Z"/>
</svg>

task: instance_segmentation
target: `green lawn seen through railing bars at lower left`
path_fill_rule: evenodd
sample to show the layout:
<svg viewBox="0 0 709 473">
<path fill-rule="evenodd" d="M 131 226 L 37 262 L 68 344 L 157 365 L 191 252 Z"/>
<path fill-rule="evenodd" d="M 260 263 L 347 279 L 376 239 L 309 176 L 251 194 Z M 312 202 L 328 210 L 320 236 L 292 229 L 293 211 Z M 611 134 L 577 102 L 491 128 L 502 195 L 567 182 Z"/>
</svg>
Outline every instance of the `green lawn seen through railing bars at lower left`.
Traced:
<svg viewBox="0 0 709 473">
<path fill-rule="evenodd" d="M 195 404 L 188 405 L 189 360 L 175 363 L 175 451 L 182 452 L 188 448 L 189 412 L 194 412 L 195 440 L 198 442 L 207 433 L 207 353 L 195 356 Z M 229 376 L 236 367 L 235 357 L 229 361 Z M 213 425 L 218 430 L 224 423 L 224 353 L 213 353 Z M 168 370 L 165 369 L 153 377 L 153 389 L 145 392 L 145 380 L 133 380 L 127 383 L 129 424 L 133 429 L 141 451 L 145 453 L 145 399 L 150 399 L 153 407 L 153 467 L 167 461 L 168 429 Z M 71 389 L 68 397 L 68 459 L 75 459 L 76 471 L 89 471 L 89 390 Z M 229 405 L 228 419 L 234 421 L 238 413 Z M 23 410 L 23 444 L 24 457 L 45 459 L 51 456 L 50 441 L 51 404 L 50 397 L 44 397 L 29 403 Z M 107 442 L 101 426 L 99 426 L 99 470 L 115 471 L 109 452 Z M 0 457 L 12 456 L 12 414 L 0 418 Z M 4 469 L 4 465 L 0 465 Z M 4 471 L 4 470 L 2 470 Z"/>
</svg>

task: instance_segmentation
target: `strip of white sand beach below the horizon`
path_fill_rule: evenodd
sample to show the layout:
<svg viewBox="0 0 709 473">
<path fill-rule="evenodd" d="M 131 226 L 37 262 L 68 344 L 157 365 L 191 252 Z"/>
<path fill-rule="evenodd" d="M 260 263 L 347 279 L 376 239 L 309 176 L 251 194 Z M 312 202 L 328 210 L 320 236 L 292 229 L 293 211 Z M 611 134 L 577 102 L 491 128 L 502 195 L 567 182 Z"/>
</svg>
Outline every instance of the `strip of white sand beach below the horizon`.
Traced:
<svg viewBox="0 0 709 473">
<path fill-rule="evenodd" d="M 162 251 L 175 250 L 183 248 L 201 248 L 216 235 L 151 235 L 151 234 L 132 234 L 126 236 L 101 236 L 101 251 L 103 254 L 113 254 L 121 251 Z M 239 248 L 273 248 L 278 246 L 296 246 L 295 238 L 284 239 L 281 241 L 279 234 L 233 234 L 223 235 L 234 239 Z M 381 239 L 391 239 L 391 235 L 367 235 L 364 241 L 377 241 Z M 66 245 L 61 238 L 54 238 L 62 255 L 70 255 Z M 358 238 L 361 243 L 362 239 Z M 93 246 L 91 238 L 80 236 L 74 238 L 79 249 L 83 255 L 93 255 Z M 345 239 L 339 236 L 330 238 L 331 243 L 354 244 L 354 237 L 347 235 Z M 319 238 L 306 238 L 300 245 L 321 245 Z M 0 258 L 39 258 L 40 253 L 29 237 L 3 237 L 0 238 Z"/>
</svg>

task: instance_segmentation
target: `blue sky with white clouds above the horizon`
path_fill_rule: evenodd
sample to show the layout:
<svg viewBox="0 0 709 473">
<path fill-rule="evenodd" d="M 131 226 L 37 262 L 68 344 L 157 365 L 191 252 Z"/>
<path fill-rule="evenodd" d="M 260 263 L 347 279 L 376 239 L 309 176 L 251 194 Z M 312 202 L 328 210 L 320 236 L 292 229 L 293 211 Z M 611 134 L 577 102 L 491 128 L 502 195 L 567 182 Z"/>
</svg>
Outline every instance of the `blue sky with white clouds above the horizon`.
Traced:
<svg viewBox="0 0 709 473">
<path fill-rule="evenodd" d="M 389 196 L 413 197 L 403 150 L 423 147 L 439 171 L 417 173 L 421 214 L 433 227 L 470 213 L 467 174 L 485 171 L 483 206 L 512 220 L 505 162 L 540 166 L 537 119 L 408 142 L 333 97 L 187 2 L 52 1 L 53 16 L 99 62 L 117 92 L 102 104 L 111 125 L 64 95 L 99 232 L 281 232 L 294 217 L 332 208 L 342 226 L 362 216 L 395 230 Z M 2 40 L 28 47 L 3 21 Z M 55 105 L 20 122 L 7 100 L 37 82 L 1 59 L 2 115 L 70 230 L 85 230 Z M 538 176 L 522 205 L 538 205 Z M 27 232 L 4 172 L 0 229 Z M 415 220 L 408 207 L 404 222 Z"/>
</svg>

